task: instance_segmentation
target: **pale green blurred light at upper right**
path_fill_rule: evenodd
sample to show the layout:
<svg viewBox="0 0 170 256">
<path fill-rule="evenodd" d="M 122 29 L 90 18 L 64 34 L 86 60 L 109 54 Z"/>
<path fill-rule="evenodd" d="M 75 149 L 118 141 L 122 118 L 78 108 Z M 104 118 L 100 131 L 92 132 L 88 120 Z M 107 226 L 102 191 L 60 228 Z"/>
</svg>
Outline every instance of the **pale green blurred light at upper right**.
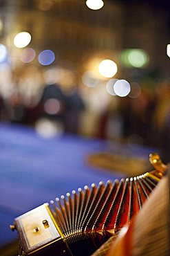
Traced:
<svg viewBox="0 0 170 256">
<path fill-rule="evenodd" d="M 127 67 L 145 68 L 149 64 L 149 55 L 142 49 L 125 49 L 120 54 L 120 62 Z"/>
</svg>

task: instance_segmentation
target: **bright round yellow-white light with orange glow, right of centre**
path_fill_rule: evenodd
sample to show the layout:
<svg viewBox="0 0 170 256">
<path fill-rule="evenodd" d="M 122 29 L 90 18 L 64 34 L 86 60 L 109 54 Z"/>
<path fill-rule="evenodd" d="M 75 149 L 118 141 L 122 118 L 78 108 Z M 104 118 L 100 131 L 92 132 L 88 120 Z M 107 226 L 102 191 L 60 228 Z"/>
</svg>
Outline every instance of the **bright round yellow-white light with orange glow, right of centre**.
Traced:
<svg viewBox="0 0 170 256">
<path fill-rule="evenodd" d="M 113 60 L 103 60 L 98 66 L 98 71 L 104 77 L 113 77 L 118 71 L 118 67 Z"/>
</svg>

